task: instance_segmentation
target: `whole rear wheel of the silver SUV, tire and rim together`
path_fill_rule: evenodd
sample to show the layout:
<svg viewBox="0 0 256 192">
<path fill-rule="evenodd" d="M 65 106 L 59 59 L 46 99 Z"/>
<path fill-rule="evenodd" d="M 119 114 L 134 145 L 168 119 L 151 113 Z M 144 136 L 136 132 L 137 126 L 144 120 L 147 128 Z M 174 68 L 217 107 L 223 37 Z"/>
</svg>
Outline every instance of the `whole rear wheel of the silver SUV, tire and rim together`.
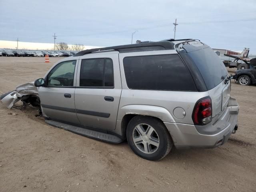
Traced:
<svg viewBox="0 0 256 192">
<path fill-rule="evenodd" d="M 135 116 L 126 130 L 130 148 L 147 160 L 160 160 L 172 149 L 172 138 L 160 120 L 148 116 Z"/>
</svg>

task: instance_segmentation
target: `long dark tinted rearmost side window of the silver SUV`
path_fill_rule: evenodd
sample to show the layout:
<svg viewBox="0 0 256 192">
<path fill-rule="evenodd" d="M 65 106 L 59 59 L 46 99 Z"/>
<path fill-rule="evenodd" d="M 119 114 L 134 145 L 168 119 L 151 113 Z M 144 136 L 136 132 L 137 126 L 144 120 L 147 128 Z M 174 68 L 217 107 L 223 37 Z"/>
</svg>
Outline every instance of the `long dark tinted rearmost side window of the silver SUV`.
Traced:
<svg viewBox="0 0 256 192">
<path fill-rule="evenodd" d="M 178 54 L 126 57 L 123 63 L 130 89 L 196 91 Z"/>
</svg>

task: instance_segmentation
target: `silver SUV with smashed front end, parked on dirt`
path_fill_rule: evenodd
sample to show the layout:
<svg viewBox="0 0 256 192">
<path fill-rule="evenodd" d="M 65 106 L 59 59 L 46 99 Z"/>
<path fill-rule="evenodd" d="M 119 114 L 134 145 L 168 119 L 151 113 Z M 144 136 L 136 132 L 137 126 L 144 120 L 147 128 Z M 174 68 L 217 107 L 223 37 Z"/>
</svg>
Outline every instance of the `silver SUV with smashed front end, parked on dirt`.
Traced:
<svg viewBox="0 0 256 192">
<path fill-rule="evenodd" d="M 226 67 L 192 39 L 84 50 L 1 100 L 41 106 L 48 124 L 83 136 L 127 140 L 148 160 L 172 146 L 220 146 L 238 128 Z"/>
</svg>

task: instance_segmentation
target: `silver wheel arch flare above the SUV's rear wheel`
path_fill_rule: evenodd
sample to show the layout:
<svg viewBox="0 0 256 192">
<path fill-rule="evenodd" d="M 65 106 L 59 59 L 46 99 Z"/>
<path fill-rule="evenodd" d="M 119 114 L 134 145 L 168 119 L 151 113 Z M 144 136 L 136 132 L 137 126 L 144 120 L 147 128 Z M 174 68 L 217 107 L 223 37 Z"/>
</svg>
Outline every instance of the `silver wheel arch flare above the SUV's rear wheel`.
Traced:
<svg viewBox="0 0 256 192">
<path fill-rule="evenodd" d="M 138 115 L 146 115 L 159 118 L 163 122 L 174 123 L 175 120 L 170 114 L 170 112 L 163 107 L 152 106 L 152 105 L 126 105 L 122 106 L 118 110 L 118 120 L 122 120 L 122 118 L 126 114 L 138 114 Z"/>
</svg>

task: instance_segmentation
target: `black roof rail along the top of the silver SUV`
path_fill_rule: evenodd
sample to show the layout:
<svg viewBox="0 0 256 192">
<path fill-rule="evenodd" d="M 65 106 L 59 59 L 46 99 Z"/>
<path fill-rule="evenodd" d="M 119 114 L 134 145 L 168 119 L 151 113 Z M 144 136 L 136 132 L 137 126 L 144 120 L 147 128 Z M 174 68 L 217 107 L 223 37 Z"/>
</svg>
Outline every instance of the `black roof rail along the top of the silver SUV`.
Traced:
<svg viewBox="0 0 256 192">
<path fill-rule="evenodd" d="M 138 44 L 130 44 L 130 45 L 120 45 L 120 46 L 112 46 L 112 47 L 103 47 L 103 48 L 95 48 L 83 50 L 76 53 L 74 56 L 82 56 L 85 54 L 90 54 L 98 51 L 106 51 L 106 50 L 115 50 L 120 53 L 124 52 L 138 52 L 138 51 L 154 51 L 154 50 L 171 50 L 174 49 L 174 43 L 170 41 L 158 41 L 158 42 L 145 42 Z"/>
</svg>

